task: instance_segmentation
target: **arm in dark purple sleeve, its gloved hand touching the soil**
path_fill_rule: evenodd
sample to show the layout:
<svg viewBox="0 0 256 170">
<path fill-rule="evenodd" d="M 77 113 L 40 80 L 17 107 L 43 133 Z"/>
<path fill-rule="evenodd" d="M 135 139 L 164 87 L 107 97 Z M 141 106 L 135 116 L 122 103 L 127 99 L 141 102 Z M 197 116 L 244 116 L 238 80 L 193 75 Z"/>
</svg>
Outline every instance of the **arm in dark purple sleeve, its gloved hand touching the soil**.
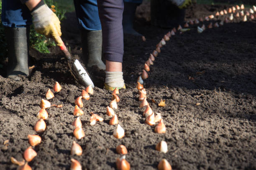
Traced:
<svg viewBox="0 0 256 170">
<path fill-rule="evenodd" d="M 123 62 L 123 0 L 98 0 L 102 25 L 103 56 L 106 59 L 105 88 L 125 88 Z"/>
</svg>

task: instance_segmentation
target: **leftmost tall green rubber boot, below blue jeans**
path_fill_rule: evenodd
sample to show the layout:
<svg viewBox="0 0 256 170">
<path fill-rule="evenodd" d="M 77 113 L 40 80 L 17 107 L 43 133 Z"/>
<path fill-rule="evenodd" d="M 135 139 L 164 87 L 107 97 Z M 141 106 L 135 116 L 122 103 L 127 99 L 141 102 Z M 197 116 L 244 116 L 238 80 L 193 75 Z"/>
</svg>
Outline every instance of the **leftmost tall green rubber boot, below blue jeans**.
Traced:
<svg viewBox="0 0 256 170">
<path fill-rule="evenodd" d="M 28 50 L 30 27 L 5 28 L 8 44 L 7 77 L 19 81 L 17 75 L 28 76 Z"/>
</svg>

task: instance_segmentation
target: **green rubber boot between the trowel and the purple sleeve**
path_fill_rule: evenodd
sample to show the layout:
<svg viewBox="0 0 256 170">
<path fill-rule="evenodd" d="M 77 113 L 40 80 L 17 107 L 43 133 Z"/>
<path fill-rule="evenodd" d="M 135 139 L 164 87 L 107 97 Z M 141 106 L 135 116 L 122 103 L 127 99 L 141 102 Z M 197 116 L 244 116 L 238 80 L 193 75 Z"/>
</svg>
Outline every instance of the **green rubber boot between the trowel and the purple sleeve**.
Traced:
<svg viewBox="0 0 256 170">
<path fill-rule="evenodd" d="M 102 56 L 102 31 L 88 31 L 82 30 L 82 50 L 83 59 L 87 67 L 97 65 L 99 69 L 106 70 L 104 62 L 101 60 Z"/>
</svg>

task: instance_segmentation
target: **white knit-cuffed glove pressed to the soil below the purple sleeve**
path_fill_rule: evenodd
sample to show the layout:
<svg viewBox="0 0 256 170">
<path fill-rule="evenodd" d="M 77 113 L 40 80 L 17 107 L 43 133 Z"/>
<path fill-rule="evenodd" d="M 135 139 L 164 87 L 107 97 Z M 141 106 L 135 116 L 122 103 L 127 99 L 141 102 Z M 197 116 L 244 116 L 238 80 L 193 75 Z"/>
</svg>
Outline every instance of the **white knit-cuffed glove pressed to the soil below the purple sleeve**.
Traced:
<svg viewBox="0 0 256 170">
<path fill-rule="evenodd" d="M 123 80 L 123 72 L 109 72 L 106 71 L 105 77 L 105 89 L 106 90 L 115 90 L 115 87 L 118 89 L 125 88 L 124 80 Z"/>
</svg>

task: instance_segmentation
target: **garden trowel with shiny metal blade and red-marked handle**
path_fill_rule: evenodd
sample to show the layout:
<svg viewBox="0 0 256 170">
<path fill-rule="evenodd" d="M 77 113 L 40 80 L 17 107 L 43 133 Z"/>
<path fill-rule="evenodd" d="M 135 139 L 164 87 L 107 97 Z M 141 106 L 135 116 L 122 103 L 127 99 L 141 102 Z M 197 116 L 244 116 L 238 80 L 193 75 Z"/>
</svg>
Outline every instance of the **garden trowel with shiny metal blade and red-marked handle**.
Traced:
<svg viewBox="0 0 256 170">
<path fill-rule="evenodd" d="M 92 87 L 94 87 L 94 84 L 90 79 L 87 71 L 84 69 L 84 67 L 80 64 L 80 62 L 77 59 L 74 60 L 74 58 L 67 50 L 67 47 L 64 45 L 64 42 L 59 47 L 61 51 L 64 52 L 65 57 L 67 58 L 70 72 L 74 76 L 74 78 L 77 79 L 78 82 L 84 85 L 85 87 L 89 85 L 92 85 Z"/>
</svg>

